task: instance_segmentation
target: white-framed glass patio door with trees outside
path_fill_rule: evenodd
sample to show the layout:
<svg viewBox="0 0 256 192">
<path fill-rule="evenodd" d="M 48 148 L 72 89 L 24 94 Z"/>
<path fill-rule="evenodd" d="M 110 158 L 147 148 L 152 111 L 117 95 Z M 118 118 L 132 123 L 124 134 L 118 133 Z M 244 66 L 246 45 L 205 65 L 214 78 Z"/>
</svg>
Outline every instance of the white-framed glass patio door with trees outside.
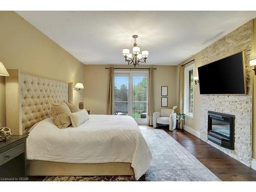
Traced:
<svg viewBox="0 0 256 192">
<path fill-rule="evenodd" d="M 138 124 L 147 123 L 148 72 L 115 71 L 115 115 L 130 115 Z"/>
</svg>

